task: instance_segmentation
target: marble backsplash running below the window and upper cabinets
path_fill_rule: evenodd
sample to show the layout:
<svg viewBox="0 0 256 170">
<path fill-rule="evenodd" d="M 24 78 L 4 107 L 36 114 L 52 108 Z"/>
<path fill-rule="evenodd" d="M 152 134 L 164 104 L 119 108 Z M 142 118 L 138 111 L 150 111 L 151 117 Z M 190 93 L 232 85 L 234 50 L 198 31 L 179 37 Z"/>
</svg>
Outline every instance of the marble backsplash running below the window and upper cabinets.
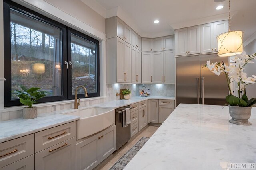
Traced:
<svg viewBox="0 0 256 170">
<path fill-rule="evenodd" d="M 139 89 L 145 86 L 147 89 L 150 89 L 151 96 L 168 96 L 174 97 L 175 90 L 174 84 L 106 84 L 106 98 L 94 98 L 94 99 L 87 99 L 87 100 L 80 100 L 79 107 L 90 106 L 93 104 L 98 104 L 102 102 L 108 102 L 111 100 L 120 100 L 120 97 L 117 99 L 116 92 L 120 92 L 120 89 L 130 89 L 132 94 L 131 96 L 139 96 Z M 159 88 L 159 92 L 158 92 Z M 35 105 L 36 106 L 36 105 Z M 46 106 L 38 107 L 38 114 L 41 113 L 50 113 L 53 111 L 60 111 L 64 109 L 70 109 L 74 107 L 74 100 L 69 101 L 60 101 L 60 102 L 52 102 L 47 104 Z M 22 107 L 17 107 L 18 109 L 7 108 L 0 110 L 0 121 L 16 119 L 22 117 Z"/>
</svg>

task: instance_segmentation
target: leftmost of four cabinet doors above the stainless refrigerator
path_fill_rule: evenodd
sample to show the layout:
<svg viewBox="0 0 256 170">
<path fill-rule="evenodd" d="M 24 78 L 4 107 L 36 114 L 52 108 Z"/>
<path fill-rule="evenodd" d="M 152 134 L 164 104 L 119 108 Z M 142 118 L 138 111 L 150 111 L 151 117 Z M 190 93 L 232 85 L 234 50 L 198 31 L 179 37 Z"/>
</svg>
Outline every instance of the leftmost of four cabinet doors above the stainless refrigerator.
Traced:
<svg viewBox="0 0 256 170">
<path fill-rule="evenodd" d="M 188 28 L 177 29 L 175 32 L 176 55 L 186 55 L 188 49 Z"/>
</svg>

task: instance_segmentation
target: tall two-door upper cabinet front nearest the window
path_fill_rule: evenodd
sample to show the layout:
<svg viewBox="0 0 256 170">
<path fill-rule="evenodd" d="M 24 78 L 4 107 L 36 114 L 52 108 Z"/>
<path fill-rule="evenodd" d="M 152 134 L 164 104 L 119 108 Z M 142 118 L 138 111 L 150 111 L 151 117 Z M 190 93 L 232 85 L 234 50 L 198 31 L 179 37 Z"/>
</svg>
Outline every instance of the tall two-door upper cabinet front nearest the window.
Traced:
<svg viewBox="0 0 256 170">
<path fill-rule="evenodd" d="M 132 82 L 131 49 L 130 44 L 118 37 L 116 38 L 116 82 L 118 83 Z"/>
</svg>

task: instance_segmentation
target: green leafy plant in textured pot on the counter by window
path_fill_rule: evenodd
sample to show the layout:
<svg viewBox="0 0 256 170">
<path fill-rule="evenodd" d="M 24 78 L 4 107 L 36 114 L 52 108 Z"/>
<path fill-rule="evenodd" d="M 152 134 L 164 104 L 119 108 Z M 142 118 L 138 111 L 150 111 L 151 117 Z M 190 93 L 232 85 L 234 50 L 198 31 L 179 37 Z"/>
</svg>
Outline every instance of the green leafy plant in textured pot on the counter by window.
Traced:
<svg viewBox="0 0 256 170">
<path fill-rule="evenodd" d="M 34 119 L 37 117 L 37 107 L 32 107 L 34 103 L 38 103 L 36 100 L 46 96 L 48 92 L 38 91 L 40 88 L 32 87 L 26 88 L 23 85 L 18 84 L 18 86 L 23 90 L 12 90 L 11 93 L 16 94 L 20 98 L 20 103 L 28 105 L 28 107 L 23 108 L 23 119 Z"/>
</svg>

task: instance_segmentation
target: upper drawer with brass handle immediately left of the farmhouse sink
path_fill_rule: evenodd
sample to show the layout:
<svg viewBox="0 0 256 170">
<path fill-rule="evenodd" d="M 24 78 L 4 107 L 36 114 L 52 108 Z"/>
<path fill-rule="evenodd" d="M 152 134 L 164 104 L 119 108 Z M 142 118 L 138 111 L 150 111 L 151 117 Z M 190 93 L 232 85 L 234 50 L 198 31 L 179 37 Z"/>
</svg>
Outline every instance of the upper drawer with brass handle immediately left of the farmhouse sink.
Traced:
<svg viewBox="0 0 256 170">
<path fill-rule="evenodd" d="M 35 152 L 52 147 L 76 136 L 76 122 L 67 123 L 35 133 Z"/>
</svg>

